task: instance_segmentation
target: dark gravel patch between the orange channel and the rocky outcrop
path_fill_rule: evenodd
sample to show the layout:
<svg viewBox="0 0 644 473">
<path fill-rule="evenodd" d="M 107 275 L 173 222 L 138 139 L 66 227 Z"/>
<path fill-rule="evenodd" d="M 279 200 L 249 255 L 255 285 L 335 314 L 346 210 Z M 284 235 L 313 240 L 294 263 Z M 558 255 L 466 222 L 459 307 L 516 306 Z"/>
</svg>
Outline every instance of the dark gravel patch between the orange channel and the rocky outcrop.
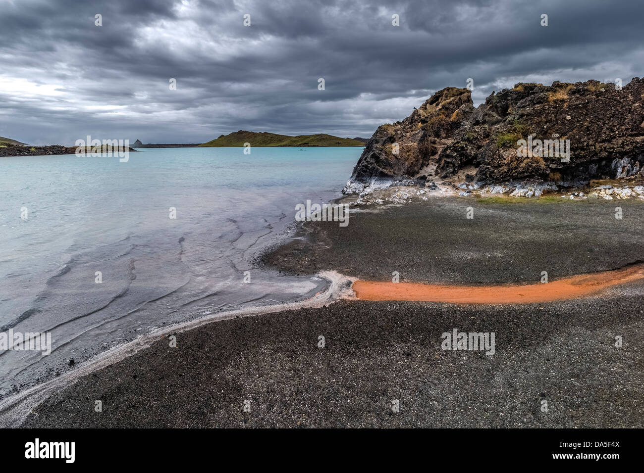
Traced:
<svg viewBox="0 0 644 473">
<path fill-rule="evenodd" d="M 528 200 L 528 199 L 526 199 Z M 472 207 L 473 219 L 466 218 Z M 623 218 L 615 218 L 621 207 Z M 434 198 L 351 213 L 349 225 L 308 223 L 269 263 L 298 274 L 336 270 L 391 281 L 534 283 L 644 261 L 644 202 Z"/>
</svg>

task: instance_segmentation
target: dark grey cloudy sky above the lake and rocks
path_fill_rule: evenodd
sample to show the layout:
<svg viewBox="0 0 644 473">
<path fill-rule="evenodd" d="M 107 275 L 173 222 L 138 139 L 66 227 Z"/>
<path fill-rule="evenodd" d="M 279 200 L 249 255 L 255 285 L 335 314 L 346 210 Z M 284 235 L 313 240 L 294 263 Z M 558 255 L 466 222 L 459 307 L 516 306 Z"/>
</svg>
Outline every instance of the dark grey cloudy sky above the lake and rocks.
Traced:
<svg viewBox="0 0 644 473">
<path fill-rule="evenodd" d="M 468 78 L 475 104 L 516 82 L 626 84 L 643 31 L 639 0 L 0 0 L 0 136 L 368 137 Z"/>
</svg>

